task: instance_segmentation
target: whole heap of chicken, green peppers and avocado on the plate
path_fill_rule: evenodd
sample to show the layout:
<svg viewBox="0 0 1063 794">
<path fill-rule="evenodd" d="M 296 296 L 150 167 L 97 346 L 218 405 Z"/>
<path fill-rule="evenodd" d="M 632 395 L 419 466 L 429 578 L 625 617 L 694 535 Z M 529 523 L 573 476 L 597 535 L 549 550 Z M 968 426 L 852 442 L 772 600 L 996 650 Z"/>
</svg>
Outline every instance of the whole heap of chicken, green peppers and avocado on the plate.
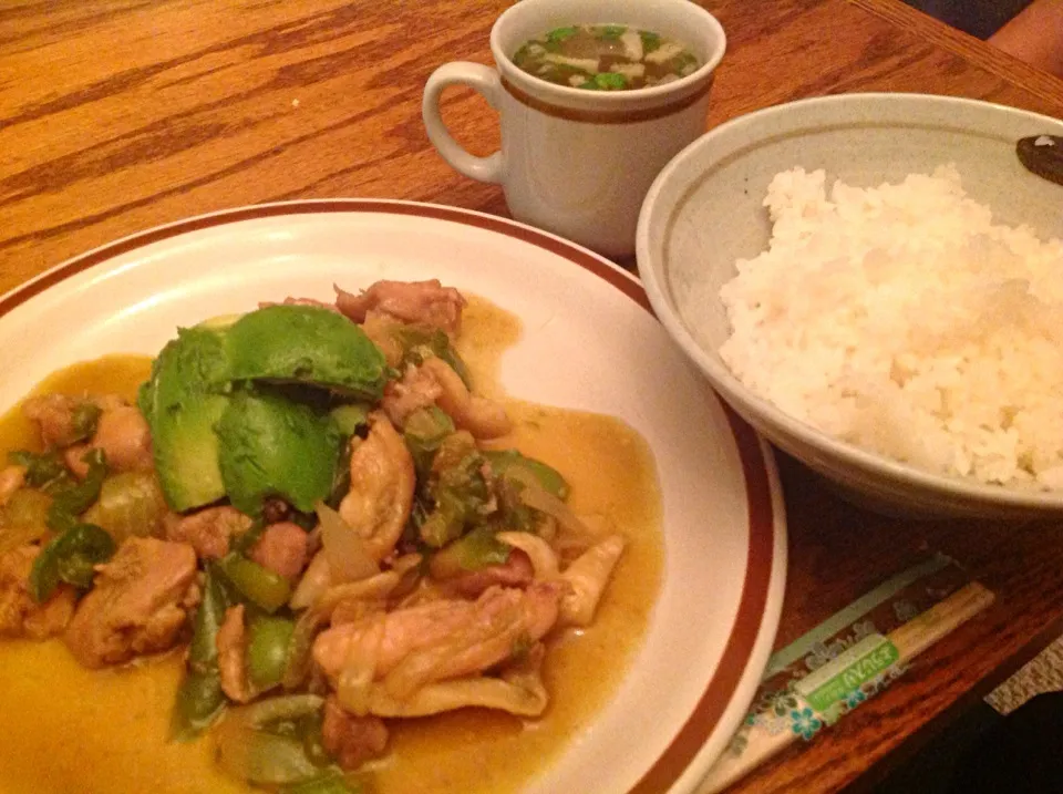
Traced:
<svg viewBox="0 0 1063 794">
<path fill-rule="evenodd" d="M 506 447 L 457 290 L 337 292 L 180 329 L 136 405 L 28 399 L 40 445 L 0 472 L 0 636 L 86 668 L 183 648 L 175 740 L 303 794 L 358 791 L 393 720 L 541 714 L 544 641 L 625 546 Z"/>
</svg>

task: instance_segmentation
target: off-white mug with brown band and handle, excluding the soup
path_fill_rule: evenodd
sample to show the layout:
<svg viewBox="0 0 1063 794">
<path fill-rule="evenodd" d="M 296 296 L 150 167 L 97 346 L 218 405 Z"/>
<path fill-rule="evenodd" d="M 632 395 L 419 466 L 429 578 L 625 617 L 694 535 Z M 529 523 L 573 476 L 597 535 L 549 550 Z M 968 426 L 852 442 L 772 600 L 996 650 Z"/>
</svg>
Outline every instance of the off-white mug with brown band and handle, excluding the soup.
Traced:
<svg viewBox="0 0 1063 794">
<path fill-rule="evenodd" d="M 587 91 L 549 83 L 513 63 L 529 39 L 576 24 L 652 31 L 684 44 L 701 66 L 663 85 Z M 455 62 L 429 78 L 425 130 L 453 168 L 500 184 L 515 219 L 627 257 L 653 178 L 705 131 L 712 73 L 725 48 L 723 28 L 690 0 L 520 0 L 492 28 L 497 70 Z M 499 152 L 476 157 L 454 141 L 440 115 L 448 85 L 474 89 L 498 112 Z"/>
</svg>

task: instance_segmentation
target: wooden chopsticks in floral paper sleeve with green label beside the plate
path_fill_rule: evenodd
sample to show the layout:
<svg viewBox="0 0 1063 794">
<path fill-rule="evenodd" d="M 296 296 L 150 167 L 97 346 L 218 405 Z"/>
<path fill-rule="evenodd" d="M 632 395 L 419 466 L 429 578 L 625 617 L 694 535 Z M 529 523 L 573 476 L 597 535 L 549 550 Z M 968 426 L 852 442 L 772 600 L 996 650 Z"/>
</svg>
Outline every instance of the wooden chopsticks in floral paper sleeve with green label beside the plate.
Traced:
<svg viewBox="0 0 1063 794">
<path fill-rule="evenodd" d="M 951 560 L 948 558 L 937 556 L 931 558 L 929 564 L 923 564 L 923 569 L 931 569 L 931 574 L 937 574 L 949 564 Z M 932 570 L 936 565 L 941 567 Z M 954 565 L 952 567 L 954 571 Z M 914 569 L 906 574 L 911 570 Z M 895 577 L 890 582 L 904 578 L 905 574 Z M 888 588 L 890 582 L 879 590 Z M 902 586 L 908 584 L 910 582 L 902 582 Z M 932 592 L 932 587 L 923 589 Z M 861 600 L 874 598 L 876 592 L 868 594 Z M 798 740 L 811 741 L 821 729 L 834 724 L 844 714 L 874 697 L 899 677 L 911 659 L 978 615 L 992 601 L 993 594 L 982 585 L 964 585 L 888 633 L 871 632 L 855 639 L 822 667 L 796 681 L 792 680 L 785 690 L 768 691 L 767 700 L 771 704 L 746 718 L 727 751 L 709 771 L 709 775 L 698 788 L 698 794 L 723 791 L 792 743 Z M 904 601 L 895 601 L 895 609 L 898 604 Z M 843 610 L 832 620 L 853 609 L 850 607 Z M 857 629 L 857 635 L 859 633 Z M 801 640 L 794 645 L 799 642 Z M 822 642 L 816 645 L 825 647 Z M 783 649 L 780 653 L 785 653 L 786 650 L 788 649 Z M 784 671 L 777 669 L 773 671 L 773 666 L 770 664 L 765 681 L 782 672 Z M 763 690 L 762 687 L 762 692 Z"/>
</svg>

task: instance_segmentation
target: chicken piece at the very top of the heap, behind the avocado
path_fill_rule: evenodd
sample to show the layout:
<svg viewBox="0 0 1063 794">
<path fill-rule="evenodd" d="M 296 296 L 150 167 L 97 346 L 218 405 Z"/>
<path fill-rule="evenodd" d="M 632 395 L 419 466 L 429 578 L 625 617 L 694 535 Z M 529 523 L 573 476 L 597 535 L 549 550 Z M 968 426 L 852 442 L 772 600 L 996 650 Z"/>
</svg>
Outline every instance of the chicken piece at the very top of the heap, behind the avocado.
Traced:
<svg viewBox="0 0 1063 794">
<path fill-rule="evenodd" d="M 363 322 L 370 311 L 390 314 L 396 320 L 438 328 L 450 334 L 461 330 L 465 298 L 438 279 L 431 281 L 378 281 L 359 295 L 336 287 L 336 306 L 354 322 Z"/>
</svg>

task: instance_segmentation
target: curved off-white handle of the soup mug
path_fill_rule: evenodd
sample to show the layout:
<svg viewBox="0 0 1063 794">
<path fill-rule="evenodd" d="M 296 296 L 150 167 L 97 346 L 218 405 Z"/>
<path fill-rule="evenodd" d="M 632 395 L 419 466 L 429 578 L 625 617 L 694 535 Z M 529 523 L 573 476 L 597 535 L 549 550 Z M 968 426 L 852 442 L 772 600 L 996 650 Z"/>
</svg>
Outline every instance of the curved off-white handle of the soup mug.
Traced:
<svg viewBox="0 0 1063 794">
<path fill-rule="evenodd" d="M 495 152 L 487 157 L 477 157 L 469 154 L 454 140 L 443 116 L 440 115 L 440 97 L 443 89 L 448 85 L 467 85 L 487 100 L 487 104 L 498 110 L 502 97 L 502 82 L 498 72 L 481 63 L 456 61 L 445 63 L 429 78 L 424 84 L 424 99 L 421 102 L 421 117 L 424 128 L 429 133 L 429 141 L 438 151 L 452 168 L 461 174 L 477 179 L 498 184 L 503 176 L 502 152 Z"/>
</svg>

